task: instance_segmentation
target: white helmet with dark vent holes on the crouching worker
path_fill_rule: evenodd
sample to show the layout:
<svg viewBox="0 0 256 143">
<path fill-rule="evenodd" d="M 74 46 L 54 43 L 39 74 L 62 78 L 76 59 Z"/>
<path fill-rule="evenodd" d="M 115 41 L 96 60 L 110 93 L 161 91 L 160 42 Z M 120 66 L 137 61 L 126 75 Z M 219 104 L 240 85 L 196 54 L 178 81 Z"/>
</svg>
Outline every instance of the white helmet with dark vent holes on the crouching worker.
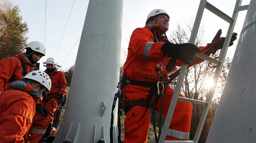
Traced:
<svg viewBox="0 0 256 143">
<path fill-rule="evenodd" d="M 43 91 L 46 91 L 46 93 L 50 93 L 50 90 L 52 87 L 52 81 L 48 76 L 48 74 L 46 74 L 45 72 L 39 71 L 39 70 L 31 71 L 30 73 L 26 74 L 26 76 L 22 78 L 23 81 L 25 81 L 26 79 L 35 80 L 39 82 L 45 88 L 45 90 Z M 40 93 L 42 93 L 43 91 L 41 91 Z"/>
</svg>

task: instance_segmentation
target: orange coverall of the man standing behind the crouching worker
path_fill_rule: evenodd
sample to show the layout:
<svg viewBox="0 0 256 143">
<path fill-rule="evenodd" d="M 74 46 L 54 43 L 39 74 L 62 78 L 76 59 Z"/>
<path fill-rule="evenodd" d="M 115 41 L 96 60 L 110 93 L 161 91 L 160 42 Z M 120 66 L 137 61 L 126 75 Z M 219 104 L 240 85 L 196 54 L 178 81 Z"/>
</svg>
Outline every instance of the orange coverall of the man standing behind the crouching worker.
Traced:
<svg viewBox="0 0 256 143">
<path fill-rule="evenodd" d="M 26 53 L 19 53 L 17 57 L 26 65 L 28 73 L 34 71 L 32 67 L 36 67 L 36 65 L 29 61 Z M 6 90 L 12 81 L 21 80 L 24 77 L 22 75 L 24 71 L 22 63 L 17 57 L 7 57 L 0 60 L 0 91 Z M 48 122 L 46 122 L 46 120 L 48 120 Z M 36 110 L 36 114 L 33 118 L 34 123 L 29 133 L 29 135 L 33 136 L 31 136 L 30 139 L 35 139 L 35 143 L 39 142 L 48 128 L 49 121 L 50 116 L 45 117 Z"/>
</svg>

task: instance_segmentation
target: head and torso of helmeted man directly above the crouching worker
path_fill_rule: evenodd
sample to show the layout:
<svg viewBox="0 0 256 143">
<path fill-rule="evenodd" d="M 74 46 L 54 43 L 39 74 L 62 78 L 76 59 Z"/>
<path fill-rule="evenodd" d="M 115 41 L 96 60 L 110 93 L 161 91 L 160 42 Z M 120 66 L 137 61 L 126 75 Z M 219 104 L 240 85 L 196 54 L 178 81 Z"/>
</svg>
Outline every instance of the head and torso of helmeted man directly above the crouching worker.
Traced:
<svg viewBox="0 0 256 143">
<path fill-rule="evenodd" d="M 21 80 L 30 71 L 34 71 L 35 63 L 46 54 L 45 46 L 38 41 L 29 42 L 25 49 L 26 53 L 0 60 L 0 93 L 6 90 L 11 82 Z"/>
</svg>

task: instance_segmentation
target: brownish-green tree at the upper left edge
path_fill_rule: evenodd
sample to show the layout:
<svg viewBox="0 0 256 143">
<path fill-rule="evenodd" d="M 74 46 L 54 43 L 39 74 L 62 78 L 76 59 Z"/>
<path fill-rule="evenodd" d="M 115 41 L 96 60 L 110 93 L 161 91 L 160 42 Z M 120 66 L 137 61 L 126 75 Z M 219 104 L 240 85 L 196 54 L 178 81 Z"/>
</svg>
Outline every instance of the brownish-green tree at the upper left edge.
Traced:
<svg viewBox="0 0 256 143">
<path fill-rule="evenodd" d="M 23 51 L 28 37 L 28 25 L 22 23 L 19 6 L 6 13 L 0 10 L 0 60 Z"/>
</svg>

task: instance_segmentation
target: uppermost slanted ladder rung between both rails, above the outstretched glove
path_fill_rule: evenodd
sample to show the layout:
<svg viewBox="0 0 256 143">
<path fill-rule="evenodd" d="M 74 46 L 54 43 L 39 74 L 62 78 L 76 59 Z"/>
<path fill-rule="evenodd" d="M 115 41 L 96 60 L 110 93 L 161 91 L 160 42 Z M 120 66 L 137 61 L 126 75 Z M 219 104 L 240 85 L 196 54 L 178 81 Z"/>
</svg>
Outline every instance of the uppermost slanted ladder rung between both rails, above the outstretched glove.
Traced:
<svg viewBox="0 0 256 143">
<path fill-rule="evenodd" d="M 227 21 L 228 23 L 232 23 L 234 21 L 234 19 L 232 19 L 231 17 L 229 17 L 228 15 L 220 11 L 218 8 L 216 8 L 209 2 L 206 2 L 205 8 L 211 11 L 212 13 L 214 13 L 215 15 L 219 16 L 223 20 Z"/>
</svg>

